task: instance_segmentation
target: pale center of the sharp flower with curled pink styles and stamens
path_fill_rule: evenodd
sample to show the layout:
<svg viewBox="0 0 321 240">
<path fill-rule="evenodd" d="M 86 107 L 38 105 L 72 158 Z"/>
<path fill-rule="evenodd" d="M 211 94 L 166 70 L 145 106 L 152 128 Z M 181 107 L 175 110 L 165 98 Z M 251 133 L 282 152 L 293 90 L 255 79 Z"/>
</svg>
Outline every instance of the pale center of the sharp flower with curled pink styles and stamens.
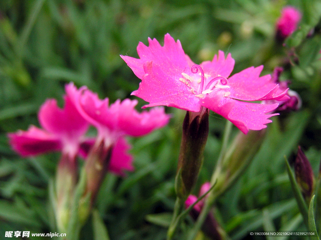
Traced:
<svg viewBox="0 0 321 240">
<path fill-rule="evenodd" d="M 186 84 L 190 91 L 198 98 L 204 98 L 206 94 L 223 94 L 224 97 L 228 97 L 230 92 L 228 92 L 230 86 L 227 84 L 227 78 L 218 75 L 212 78 L 208 74 L 204 74 L 204 70 L 200 65 L 193 65 L 191 67 L 192 73 L 199 72 L 199 76 L 188 75 L 187 73 L 182 73 L 182 78 L 179 81 Z"/>
</svg>

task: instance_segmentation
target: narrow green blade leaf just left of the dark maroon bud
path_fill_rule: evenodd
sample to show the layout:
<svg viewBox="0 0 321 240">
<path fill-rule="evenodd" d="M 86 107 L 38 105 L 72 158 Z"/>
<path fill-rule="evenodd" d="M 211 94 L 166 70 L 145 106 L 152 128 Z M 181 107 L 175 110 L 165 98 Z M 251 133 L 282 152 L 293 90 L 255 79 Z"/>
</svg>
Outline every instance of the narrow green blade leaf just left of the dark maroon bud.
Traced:
<svg viewBox="0 0 321 240">
<path fill-rule="evenodd" d="M 290 167 L 290 165 L 288 163 L 288 160 L 285 159 L 285 162 L 286 162 L 286 170 L 288 171 L 288 175 L 289 175 L 289 178 L 290 178 L 291 187 L 292 187 L 292 190 L 293 190 L 294 197 L 297 200 L 297 204 L 298 204 L 299 210 L 300 210 L 300 212 L 301 212 L 301 214 L 303 216 L 304 224 L 308 228 L 309 224 L 308 224 L 308 207 L 307 207 L 307 204 L 305 203 L 305 201 L 303 199 L 301 190 L 300 190 L 299 185 L 297 184 L 297 182 L 295 180 L 294 174 L 293 174 L 293 172 L 291 170 L 291 167 Z"/>
</svg>

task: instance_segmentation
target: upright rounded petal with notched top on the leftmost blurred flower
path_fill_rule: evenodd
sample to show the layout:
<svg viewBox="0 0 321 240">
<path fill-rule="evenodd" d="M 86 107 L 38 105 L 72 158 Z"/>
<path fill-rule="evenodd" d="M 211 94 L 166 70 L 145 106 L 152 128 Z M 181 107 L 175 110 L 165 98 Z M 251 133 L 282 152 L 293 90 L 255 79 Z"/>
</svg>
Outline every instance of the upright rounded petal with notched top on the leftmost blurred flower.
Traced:
<svg viewBox="0 0 321 240">
<path fill-rule="evenodd" d="M 68 96 L 65 96 L 63 109 L 57 106 L 55 99 L 48 99 L 40 107 L 38 117 L 40 125 L 48 132 L 72 141 L 77 141 L 89 127 Z"/>
</svg>

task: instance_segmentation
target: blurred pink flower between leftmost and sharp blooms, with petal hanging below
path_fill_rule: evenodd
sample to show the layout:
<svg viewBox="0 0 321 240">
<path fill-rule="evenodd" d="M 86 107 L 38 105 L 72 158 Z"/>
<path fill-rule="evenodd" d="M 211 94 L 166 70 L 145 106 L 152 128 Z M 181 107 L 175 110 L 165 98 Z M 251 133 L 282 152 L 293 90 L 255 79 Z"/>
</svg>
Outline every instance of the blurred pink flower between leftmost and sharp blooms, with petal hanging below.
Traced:
<svg viewBox="0 0 321 240">
<path fill-rule="evenodd" d="M 108 169 L 118 175 L 124 175 L 124 170 L 134 170 L 133 157 L 127 153 L 131 146 L 124 136 L 142 136 L 169 122 L 169 115 L 165 114 L 164 108 L 138 113 L 134 108 L 137 100 L 117 100 L 108 106 L 108 98 L 100 100 L 96 93 L 85 86 L 77 89 L 70 83 L 65 88 L 79 113 L 97 128 L 96 142 L 103 141 L 106 149 L 113 145 Z M 82 144 L 82 156 L 87 156 L 94 141 Z"/>
</svg>

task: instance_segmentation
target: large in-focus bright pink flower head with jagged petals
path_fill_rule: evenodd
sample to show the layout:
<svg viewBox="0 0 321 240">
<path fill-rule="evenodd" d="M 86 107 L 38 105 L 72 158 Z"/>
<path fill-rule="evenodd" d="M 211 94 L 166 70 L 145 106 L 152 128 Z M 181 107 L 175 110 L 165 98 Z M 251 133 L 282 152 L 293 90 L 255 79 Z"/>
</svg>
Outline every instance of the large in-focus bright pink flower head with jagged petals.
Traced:
<svg viewBox="0 0 321 240">
<path fill-rule="evenodd" d="M 235 62 L 230 53 L 225 58 L 224 52 L 219 51 L 212 61 L 196 65 L 184 53 L 179 40 L 175 42 L 169 34 L 165 35 L 163 47 L 156 39 L 148 41 L 148 47 L 143 43 L 137 46 L 140 59 L 121 55 L 142 79 L 132 95 L 150 102 L 144 108 L 165 105 L 199 112 L 203 106 L 247 133 L 272 122 L 268 118 L 277 114 L 265 113 L 278 106 L 248 101 L 289 98 L 286 90 L 270 82 L 270 75 L 259 77 L 263 66 L 250 67 L 229 77 Z"/>
</svg>

